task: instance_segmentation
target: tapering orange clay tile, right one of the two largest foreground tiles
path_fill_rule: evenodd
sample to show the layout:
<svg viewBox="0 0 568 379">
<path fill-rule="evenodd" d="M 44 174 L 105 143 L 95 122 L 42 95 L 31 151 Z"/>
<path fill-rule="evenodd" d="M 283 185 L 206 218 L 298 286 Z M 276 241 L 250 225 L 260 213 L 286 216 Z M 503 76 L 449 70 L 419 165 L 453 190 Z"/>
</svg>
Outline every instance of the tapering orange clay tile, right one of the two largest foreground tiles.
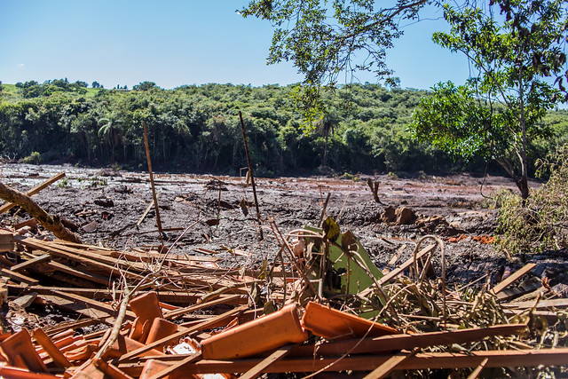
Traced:
<svg viewBox="0 0 568 379">
<path fill-rule="evenodd" d="M 305 307 L 302 326 L 316 336 L 327 339 L 344 339 L 396 335 L 396 329 L 350 313 L 310 302 Z"/>
</svg>

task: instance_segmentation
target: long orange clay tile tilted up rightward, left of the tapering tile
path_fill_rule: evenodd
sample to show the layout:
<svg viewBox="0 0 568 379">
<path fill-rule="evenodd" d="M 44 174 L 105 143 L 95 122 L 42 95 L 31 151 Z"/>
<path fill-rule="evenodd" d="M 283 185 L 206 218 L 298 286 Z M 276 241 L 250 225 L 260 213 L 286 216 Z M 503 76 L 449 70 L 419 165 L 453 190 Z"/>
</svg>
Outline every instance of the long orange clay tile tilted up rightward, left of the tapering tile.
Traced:
<svg viewBox="0 0 568 379">
<path fill-rule="evenodd" d="M 286 343 L 302 343 L 308 337 L 300 325 L 298 305 L 246 322 L 201 342 L 203 359 L 236 359 L 270 351 Z"/>
</svg>

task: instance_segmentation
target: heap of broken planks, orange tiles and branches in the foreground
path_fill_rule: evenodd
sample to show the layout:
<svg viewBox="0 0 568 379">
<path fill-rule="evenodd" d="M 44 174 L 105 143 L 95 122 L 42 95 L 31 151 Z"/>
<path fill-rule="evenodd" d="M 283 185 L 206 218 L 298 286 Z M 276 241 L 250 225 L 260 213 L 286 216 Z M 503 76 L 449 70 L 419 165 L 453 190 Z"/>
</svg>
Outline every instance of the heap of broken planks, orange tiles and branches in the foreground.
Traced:
<svg viewBox="0 0 568 379">
<path fill-rule="evenodd" d="M 252 269 L 44 241 L 32 224 L 0 230 L 2 377 L 566 374 L 568 301 L 536 265 L 449 288 L 435 236 L 381 272 L 331 217 L 287 235 L 269 223 L 280 249 Z M 61 320 L 34 323 L 34 307 Z"/>
</svg>

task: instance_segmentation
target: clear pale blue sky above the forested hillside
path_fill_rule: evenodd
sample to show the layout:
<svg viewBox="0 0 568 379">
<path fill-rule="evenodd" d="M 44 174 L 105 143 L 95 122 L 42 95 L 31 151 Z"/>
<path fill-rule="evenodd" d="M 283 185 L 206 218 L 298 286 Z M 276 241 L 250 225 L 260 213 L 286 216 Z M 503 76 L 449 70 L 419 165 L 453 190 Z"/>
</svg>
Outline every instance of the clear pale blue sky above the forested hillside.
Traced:
<svg viewBox="0 0 568 379">
<path fill-rule="evenodd" d="M 266 66 L 272 27 L 236 13 L 247 0 L 0 0 L 0 81 L 65 78 L 106 88 L 155 82 L 298 83 L 288 63 Z M 439 17 L 439 14 L 432 14 Z M 466 60 L 431 42 L 443 20 L 406 28 L 388 62 L 403 88 L 463 83 Z M 372 75 L 360 82 L 375 83 Z"/>
</svg>

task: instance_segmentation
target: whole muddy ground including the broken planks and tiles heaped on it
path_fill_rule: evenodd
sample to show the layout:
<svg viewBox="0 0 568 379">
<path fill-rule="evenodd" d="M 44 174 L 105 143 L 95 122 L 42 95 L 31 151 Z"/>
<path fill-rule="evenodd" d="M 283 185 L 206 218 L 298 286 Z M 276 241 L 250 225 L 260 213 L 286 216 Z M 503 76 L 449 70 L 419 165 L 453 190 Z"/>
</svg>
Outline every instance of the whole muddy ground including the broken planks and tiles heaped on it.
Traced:
<svg viewBox="0 0 568 379">
<path fill-rule="evenodd" d="M 497 255 L 481 179 L 256 178 L 260 241 L 246 178 L 154 174 L 162 234 L 146 174 L 0 181 L 63 171 L 32 199 L 84 243 L 0 216 L 4 377 L 566 373 L 566 251 Z"/>
</svg>

